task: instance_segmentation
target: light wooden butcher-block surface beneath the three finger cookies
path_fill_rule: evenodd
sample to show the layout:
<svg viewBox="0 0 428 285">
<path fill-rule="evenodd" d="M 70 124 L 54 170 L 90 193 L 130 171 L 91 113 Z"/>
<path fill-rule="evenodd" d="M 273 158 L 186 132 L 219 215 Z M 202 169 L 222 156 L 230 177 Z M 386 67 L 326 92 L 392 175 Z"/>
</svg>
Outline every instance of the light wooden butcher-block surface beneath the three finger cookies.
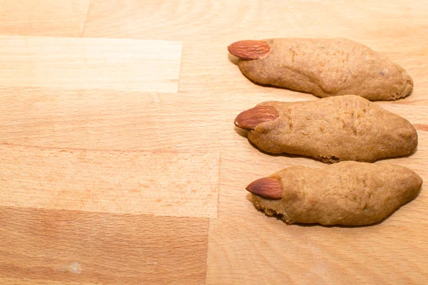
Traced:
<svg viewBox="0 0 428 285">
<path fill-rule="evenodd" d="M 291 165 L 233 126 L 265 100 L 233 41 L 346 37 L 406 68 L 428 181 L 426 1 L 0 1 L 0 284 L 425 284 L 428 195 L 372 227 L 287 225 L 249 182 Z M 78 264 L 80 274 L 67 270 Z"/>
</svg>

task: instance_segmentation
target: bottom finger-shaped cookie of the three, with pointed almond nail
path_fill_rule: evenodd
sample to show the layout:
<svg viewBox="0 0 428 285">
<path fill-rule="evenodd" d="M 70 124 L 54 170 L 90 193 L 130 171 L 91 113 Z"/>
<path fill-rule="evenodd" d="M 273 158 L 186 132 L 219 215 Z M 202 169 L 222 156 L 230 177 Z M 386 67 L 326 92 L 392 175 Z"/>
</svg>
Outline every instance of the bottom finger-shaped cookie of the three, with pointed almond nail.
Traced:
<svg viewBox="0 0 428 285">
<path fill-rule="evenodd" d="M 288 167 L 247 190 L 255 207 L 288 224 L 362 226 L 414 199 L 421 185 L 421 177 L 406 167 L 349 161 L 322 169 Z"/>
</svg>

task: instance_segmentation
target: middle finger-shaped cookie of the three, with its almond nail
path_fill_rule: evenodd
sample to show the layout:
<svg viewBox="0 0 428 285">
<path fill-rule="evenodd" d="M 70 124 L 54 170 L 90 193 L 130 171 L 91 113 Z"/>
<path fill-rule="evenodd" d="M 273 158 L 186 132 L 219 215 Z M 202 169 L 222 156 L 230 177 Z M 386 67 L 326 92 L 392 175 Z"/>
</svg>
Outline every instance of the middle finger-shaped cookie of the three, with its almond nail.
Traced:
<svg viewBox="0 0 428 285">
<path fill-rule="evenodd" d="M 239 128 L 270 153 L 315 157 L 323 162 L 372 162 L 410 155 L 417 132 L 408 120 L 357 95 L 282 103 L 265 102 L 240 113 Z"/>
</svg>

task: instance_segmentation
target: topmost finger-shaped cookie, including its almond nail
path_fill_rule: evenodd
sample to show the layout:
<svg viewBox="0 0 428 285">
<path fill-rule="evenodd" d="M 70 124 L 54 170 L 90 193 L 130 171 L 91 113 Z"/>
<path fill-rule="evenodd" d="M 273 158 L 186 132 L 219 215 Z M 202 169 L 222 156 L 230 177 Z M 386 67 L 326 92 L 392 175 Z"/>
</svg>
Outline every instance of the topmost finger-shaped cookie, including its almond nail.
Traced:
<svg viewBox="0 0 428 285">
<path fill-rule="evenodd" d="M 404 68 L 344 38 L 238 41 L 228 50 L 240 57 L 240 71 L 251 81 L 318 97 L 357 94 L 368 100 L 397 100 L 413 89 Z"/>
</svg>

